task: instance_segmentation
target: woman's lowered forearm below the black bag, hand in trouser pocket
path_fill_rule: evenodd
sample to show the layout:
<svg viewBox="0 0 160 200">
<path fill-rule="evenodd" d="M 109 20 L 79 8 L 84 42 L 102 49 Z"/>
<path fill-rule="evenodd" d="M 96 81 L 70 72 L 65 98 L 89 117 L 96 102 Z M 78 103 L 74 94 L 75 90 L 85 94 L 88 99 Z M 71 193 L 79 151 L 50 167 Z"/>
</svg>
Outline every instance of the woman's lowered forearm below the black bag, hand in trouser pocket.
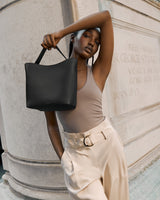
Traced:
<svg viewBox="0 0 160 200">
<path fill-rule="evenodd" d="M 47 129 L 48 129 L 48 133 L 49 133 L 49 137 L 51 139 L 52 145 L 59 159 L 61 159 L 64 149 L 62 145 L 60 132 L 58 129 L 55 112 L 47 111 L 45 112 L 45 117 L 46 117 Z"/>
</svg>

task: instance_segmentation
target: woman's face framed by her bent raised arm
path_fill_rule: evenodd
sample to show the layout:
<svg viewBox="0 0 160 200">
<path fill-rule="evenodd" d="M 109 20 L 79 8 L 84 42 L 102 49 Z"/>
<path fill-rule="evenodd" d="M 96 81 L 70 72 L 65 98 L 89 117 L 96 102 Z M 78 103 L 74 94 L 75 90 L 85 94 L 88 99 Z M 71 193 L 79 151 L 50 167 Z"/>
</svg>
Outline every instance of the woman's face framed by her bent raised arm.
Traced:
<svg viewBox="0 0 160 200">
<path fill-rule="evenodd" d="M 92 57 L 100 45 L 100 33 L 95 29 L 79 31 L 74 38 L 74 53 L 84 59 Z"/>
</svg>

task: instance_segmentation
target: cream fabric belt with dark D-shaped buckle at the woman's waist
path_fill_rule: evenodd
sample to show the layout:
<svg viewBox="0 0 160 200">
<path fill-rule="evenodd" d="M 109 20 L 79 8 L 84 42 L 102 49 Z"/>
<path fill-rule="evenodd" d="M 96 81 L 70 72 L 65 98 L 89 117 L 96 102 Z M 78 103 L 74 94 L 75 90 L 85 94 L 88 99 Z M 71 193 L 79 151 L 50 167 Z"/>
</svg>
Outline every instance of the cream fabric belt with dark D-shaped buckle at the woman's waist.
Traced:
<svg viewBox="0 0 160 200">
<path fill-rule="evenodd" d="M 74 133 L 71 136 L 66 134 L 64 137 L 64 144 L 65 147 L 73 147 L 73 148 L 91 147 L 100 140 L 109 140 L 112 133 L 113 133 L 113 127 L 108 126 L 100 131 L 91 133 L 88 132 L 87 135 Z"/>
</svg>

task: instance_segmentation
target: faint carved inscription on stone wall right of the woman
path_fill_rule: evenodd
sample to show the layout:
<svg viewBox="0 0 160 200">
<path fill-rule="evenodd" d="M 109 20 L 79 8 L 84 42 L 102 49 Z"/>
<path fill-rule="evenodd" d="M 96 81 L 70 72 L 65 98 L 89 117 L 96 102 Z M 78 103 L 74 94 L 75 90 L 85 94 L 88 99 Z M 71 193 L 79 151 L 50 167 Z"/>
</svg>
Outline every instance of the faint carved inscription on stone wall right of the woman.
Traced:
<svg viewBox="0 0 160 200">
<path fill-rule="evenodd" d="M 124 52 L 114 53 L 113 64 L 122 84 L 114 91 L 115 100 L 143 95 L 146 84 L 149 88 L 154 87 L 153 84 L 160 86 L 160 61 L 154 46 L 128 43 Z"/>
</svg>

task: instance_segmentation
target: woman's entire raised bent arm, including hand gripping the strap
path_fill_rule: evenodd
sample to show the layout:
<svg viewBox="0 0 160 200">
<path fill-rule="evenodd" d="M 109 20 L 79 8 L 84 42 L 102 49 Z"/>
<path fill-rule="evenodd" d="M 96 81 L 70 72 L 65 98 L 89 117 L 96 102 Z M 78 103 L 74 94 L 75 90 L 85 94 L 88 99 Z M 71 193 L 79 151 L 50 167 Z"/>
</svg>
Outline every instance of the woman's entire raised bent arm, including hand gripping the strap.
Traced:
<svg viewBox="0 0 160 200">
<path fill-rule="evenodd" d="M 44 36 L 44 43 L 41 45 L 46 48 L 49 47 L 48 49 L 50 50 L 52 47 L 55 48 L 59 40 L 67 34 L 95 27 L 99 27 L 101 30 L 101 45 L 93 70 L 95 74 L 98 74 L 97 77 L 101 81 L 101 85 L 104 85 L 110 72 L 114 48 L 112 19 L 108 10 L 84 17 L 58 32 L 49 34 L 49 37 L 48 35 Z"/>
</svg>

